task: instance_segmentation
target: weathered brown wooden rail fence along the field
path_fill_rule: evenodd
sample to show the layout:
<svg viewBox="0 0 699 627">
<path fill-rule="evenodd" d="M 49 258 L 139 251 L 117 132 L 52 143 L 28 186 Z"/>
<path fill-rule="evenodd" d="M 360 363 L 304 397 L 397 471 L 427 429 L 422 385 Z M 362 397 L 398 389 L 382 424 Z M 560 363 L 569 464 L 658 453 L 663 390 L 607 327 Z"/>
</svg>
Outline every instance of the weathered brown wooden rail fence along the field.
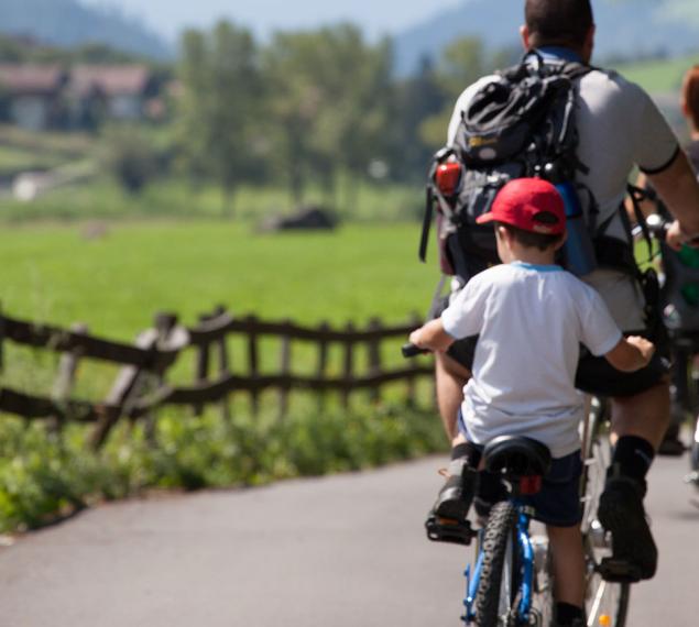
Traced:
<svg viewBox="0 0 699 627">
<path fill-rule="evenodd" d="M 337 392 L 347 406 L 354 391 L 368 391 L 372 398 L 379 399 L 385 384 L 404 381 L 407 399 L 414 402 L 415 383 L 419 377 L 433 376 L 432 366 L 424 361 L 412 361 L 400 367 L 387 367 L 382 363 L 381 348 L 386 340 L 405 339 L 418 324 L 417 318 L 396 327 L 384 327 L 374 319 L 364 329 L 351 323 L 340 330 L 327 323 L 313 329 L 291 321 L 263 321 L 254 316 L 234 318 L 219 307 L 210 315 L 200 316 L 199 323 L 192 328 L 179 324 L 174 315 L 160 314 L 152 329 L 140 333 L 134 344 L 127 344 L 92 337 L 84 324 L 61 329 L 0 312 L 0 367 L 4 361 L 3 344 L 8 341 L 61 353 L 58 372 L 47 396 L 0 387 L 0 411 L 26 419 L 47 418 L 55 429 L 61 429 L 67 420 L 94 424 L 90 443 L 98 449 L 121 418 L 149 417 L 152 422 L 154 410 L 165 405 L 190 406 L 200 415 L 209 404 L 218 404 L 229 417 L 229 398 L 238 393 L 249 395 L 252 411 L 256 414 L 262 392 L 276 391 L 282 417 L 288 409 L 292 389 L 312 391 L 320 400 L 326 393 Z M 239 366 L 243 373 L 233 373 L 231 367 L 228 339 L 236 334 L 242 337 L 245 345 Z M 264 337 L 276 338 L 278 342 L 275 374 L 262 373 L 260 369 L 260 342 Z M 315 344 L 313 375 L 295 374 L 292 367 L 293 346 L 298 342 Z M 339 375 L 331 375 L 328 367 L 329 350 L 335 345 L 342 352 Z M 196 351 L 194 381 L 186 387 L 172 385 L 167 381 L 168 371 L 187 349 Z M 363 367 L 358 363 L 359 349 L 364 349 L 367 355 Z M 78 363 L 83 360 L 121 365 L 101 403 L 73 397 Z"/>
</svg>

